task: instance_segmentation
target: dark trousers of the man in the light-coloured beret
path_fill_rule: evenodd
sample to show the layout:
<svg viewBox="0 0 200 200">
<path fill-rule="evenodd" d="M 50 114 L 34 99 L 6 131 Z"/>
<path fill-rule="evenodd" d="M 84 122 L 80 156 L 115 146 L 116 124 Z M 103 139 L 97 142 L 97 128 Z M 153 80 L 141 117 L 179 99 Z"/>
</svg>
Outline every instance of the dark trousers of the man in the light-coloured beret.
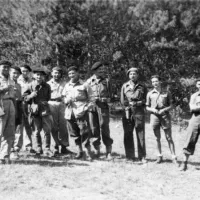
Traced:
<svg viewBox="0 0 200 200">
<path fill-rule="evenodd" d="M 135 128 L 138 144 L 138 158 L 142 159 L 146 157 L 145 147 L 145 118 L 144 115 L 130 116 L 130 119 L 126 117 L 122 118 L 122 124 L 124 128 L 124 147 L 126 157 L 130 159 L 135 158 L 135 147 L 133 130 Z"/>
</svg>

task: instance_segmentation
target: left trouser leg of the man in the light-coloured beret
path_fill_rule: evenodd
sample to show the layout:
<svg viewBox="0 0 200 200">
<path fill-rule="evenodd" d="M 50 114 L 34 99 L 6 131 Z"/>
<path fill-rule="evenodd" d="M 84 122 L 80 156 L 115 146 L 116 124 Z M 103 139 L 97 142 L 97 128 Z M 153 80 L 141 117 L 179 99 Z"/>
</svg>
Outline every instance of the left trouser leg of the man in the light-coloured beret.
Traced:
<svg viewBox="0 0 200 200">
<path fill-rule="evenodd" d="M 135 159 L 135 148 L 133 141 L 134 122 L 132 119 L 122 118 L 122 125 L 124 129 L 124 147 L 127 159 Z"/>
</svg>

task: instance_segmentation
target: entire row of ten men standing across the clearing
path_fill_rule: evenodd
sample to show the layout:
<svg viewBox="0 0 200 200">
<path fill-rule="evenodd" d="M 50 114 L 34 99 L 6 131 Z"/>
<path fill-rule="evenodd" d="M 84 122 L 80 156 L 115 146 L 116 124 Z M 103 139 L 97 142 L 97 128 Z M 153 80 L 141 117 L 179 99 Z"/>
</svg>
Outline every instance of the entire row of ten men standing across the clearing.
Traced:
<svg viewBox="0 0 200 200">
<path fill-rule="evenodd" d="M 106 78 L 107 64 L 96 62 L 91 68 L 93 75 L 83 82 L 76 66 L 68 68 L 69 82 L 62 79 L 63 71 L 54 67 L 52 78 L 46 82 L 45 71 L 41 68 L 32 71 L 28 65 L 13 67 L 8 61 L 0 62 L 0 163 L 10 161 L 11 151 L 16 154 L 23 144 L 26 150 L 37 155 L 55 156 L 70 151 L 68 134 L 75 138 L 78 147 L 77 159 L 91 160 L 100 156 L 101 138 L 106 146 L 106 158 L 112 159 L 112 143 L 109 128 L 109 106 L 112 99 L 111 85 Z M 128 160 L 135 160 L 133 130 L 135 128 L 138 145 L 138 159 L 146 163 L 145 147 L 145 109 L 151 113 L 151 125 L 157 141 L 158 157 L 162 162 L 160 128 L 165 132 L 172 160 L 177 163 L 172 139 L 170 92 L 161 87 L 159 76 L 152 76 L 153 90 L 147 93 L 146 87 L 138 81 L 137 68 L 127 71 L 129 81 L 121 89 L 121 104 L 124 109 L 122 124 L 124 128 L 125 154 Z M 192 95 L 190 108 L 194 113 L 188 131 L 187 145 L 184 148 L 183 170 L 187 169 L 189 155 L 194 153 L 200 128 L 200 80 L 198 92 Z M 25 130 L 25 131 L 24 131 Z M 44 132 L 42 148 L 41 131 Z M 33 148 L 32 132 L 36 141 Z M 55 141 L 50 150 L 51 134 Z M 91 151 L 94 147 L 94 155 Z M 61 148 L 59 148 L 61 147 Z M 59 152 L 59 150 L 61 152 Z"/>
</svg>

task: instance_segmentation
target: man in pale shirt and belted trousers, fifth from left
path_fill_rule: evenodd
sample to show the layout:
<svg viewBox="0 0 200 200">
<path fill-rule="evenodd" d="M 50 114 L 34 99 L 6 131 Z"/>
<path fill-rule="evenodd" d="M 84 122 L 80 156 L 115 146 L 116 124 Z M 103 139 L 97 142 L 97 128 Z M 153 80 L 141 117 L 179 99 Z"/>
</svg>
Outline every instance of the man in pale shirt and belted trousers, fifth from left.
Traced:
<svg viewBox="0 0 200 200">
<path fill-rule="evenodd" d="M 69 146 L 69 140 L 66 119 L 64 118 L 65 104 L 62 102 L 62 91 L 66 82 L 62 80 L 62 73 L 63 71 L 60 67 L 54 67 L 51 72 L 52 79 L 47 82 L 51 87 L 51 99 L 48 103 L 53 117 L 51 132 L 55 141 L 55 155 L 59 153 L 59 146 L 61 146 L 62 154 L 70 152 L 66 148 Z"/>
</svg>

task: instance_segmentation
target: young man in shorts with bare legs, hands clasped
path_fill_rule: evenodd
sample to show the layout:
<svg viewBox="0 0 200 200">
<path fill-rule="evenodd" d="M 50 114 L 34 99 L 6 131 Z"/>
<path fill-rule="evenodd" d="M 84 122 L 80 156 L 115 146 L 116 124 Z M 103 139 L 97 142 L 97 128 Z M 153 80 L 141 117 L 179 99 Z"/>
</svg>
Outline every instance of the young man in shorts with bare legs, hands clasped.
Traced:
<svg viewBox="0 0 200 200">
<path fill-rule="evenodd" d="M 172 108 L 171 94 L 168 90 L 161 87 L 160 77 L 158 75 L 152 76 L 151 82 L 153 90 L 147 94 L 146 109 L 151 112 L 151 125 L 157 141 L 158 158 L 156 163 L 159 164 L 163 160 L 160 142 L 160 128 L 162 127 L 169 145 L 172 160 L 175 164 L 177 164 L 175 147 L 172 139 L 171 116 L 169 113 Z"/>
</svg>

